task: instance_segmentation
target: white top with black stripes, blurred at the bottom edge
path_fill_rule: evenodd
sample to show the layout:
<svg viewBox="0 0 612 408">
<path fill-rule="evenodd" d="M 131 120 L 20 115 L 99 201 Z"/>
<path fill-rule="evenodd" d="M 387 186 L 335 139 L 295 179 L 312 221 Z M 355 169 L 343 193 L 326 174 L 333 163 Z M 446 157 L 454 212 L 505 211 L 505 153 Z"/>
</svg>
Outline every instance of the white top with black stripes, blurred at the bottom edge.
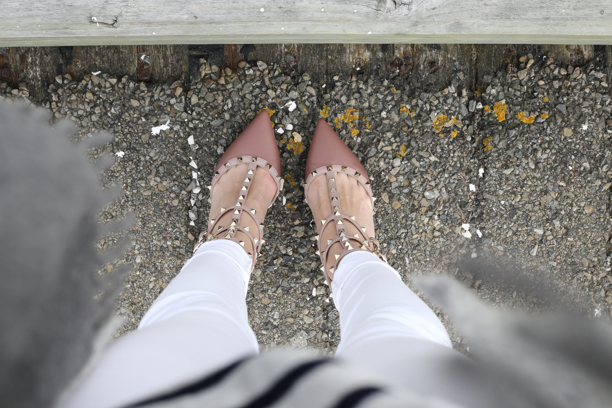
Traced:
<svg viewBox="0 0 612 408">
<path fill-rule="evenodd" d="M 389 387 L 373 374 L 305 351 L 247 358 L 125 408 L 373 408 L 457 405 Z"/>
</svg>

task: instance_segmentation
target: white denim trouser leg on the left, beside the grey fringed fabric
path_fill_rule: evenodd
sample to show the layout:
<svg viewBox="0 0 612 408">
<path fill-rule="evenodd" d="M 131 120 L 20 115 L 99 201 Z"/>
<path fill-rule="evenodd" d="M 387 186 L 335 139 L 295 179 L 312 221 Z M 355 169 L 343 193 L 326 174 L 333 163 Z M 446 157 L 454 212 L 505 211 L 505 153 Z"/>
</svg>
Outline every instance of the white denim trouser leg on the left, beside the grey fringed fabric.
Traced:
<svg viewBox="0 0 612 408">
<path fill-rule="evenodd" d="M 125 406 L 258 354 L 245 303 L 251 264 L 235 242 L 204 243 L 62 406 Z"/>
</svg>

